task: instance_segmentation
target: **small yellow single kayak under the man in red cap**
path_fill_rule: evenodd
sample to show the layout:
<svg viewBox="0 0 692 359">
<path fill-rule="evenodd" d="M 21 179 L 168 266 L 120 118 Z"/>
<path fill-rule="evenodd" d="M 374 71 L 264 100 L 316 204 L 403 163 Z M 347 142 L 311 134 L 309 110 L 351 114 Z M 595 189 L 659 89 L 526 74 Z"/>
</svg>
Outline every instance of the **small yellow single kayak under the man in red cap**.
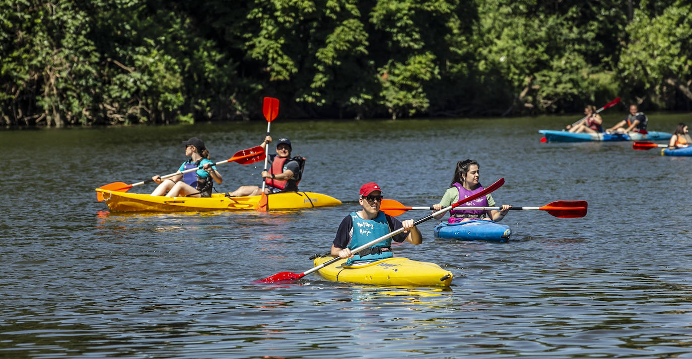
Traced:
<svg viewBox="0 0 692 359">
<path fill-rule="evenodd" d="M 315 266 L 333 259 L 318 257 Z M 411 287 L 449 287 L 453 274 L 435 263 L 418 262 L 403 257 L 386 258 L 360 266 L 346 266 L 339 260 L 325 266 L 318 273 L 327 280 L 362 284 L 379 284 Z"/>
</svg>

